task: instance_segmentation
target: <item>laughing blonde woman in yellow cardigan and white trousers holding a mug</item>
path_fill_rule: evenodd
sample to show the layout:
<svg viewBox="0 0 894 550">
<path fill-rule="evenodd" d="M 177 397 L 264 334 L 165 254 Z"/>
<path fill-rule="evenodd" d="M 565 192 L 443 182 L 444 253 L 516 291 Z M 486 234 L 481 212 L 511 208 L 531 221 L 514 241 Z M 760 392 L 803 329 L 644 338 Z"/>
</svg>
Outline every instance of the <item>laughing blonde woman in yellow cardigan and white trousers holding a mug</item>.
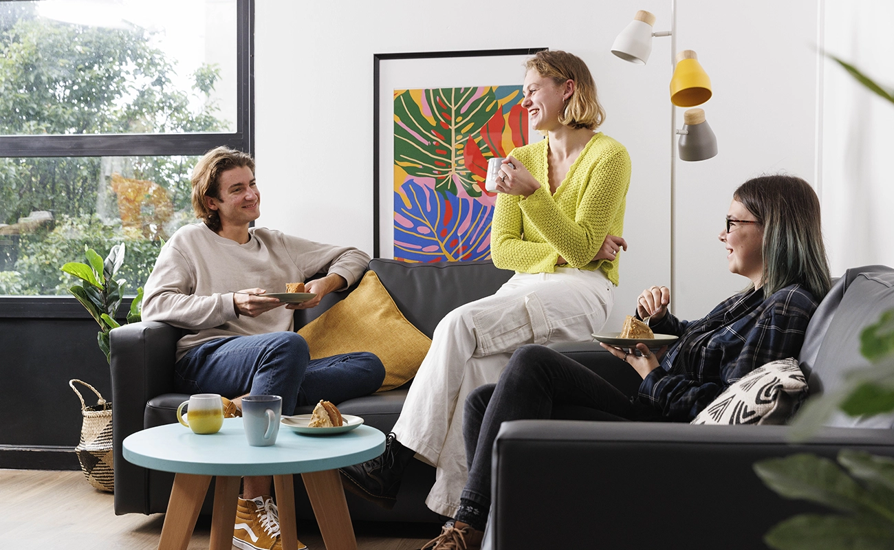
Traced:
<svg viewBox="0 0 894 550">
<path fill-rule="evenodd" d="M 454 309 L 434 330 L 382 456 L 342 469 L 346 488 L 395 503 L 414 454 L 437 469 L 426 504 L 453 517 L 468 477 L 462 438 L 466 395 L 493 384 L 527 343 L 585 341 L 604 325 L 618 284 L 630 182 L 627 149 L 596 127 L 604 112 L 577 56 L 527 61 L 522 106 L 545 135 L 503 161 L 491 230 L 497 267 L 516 272 L 493 296 Z"/>
</svg>

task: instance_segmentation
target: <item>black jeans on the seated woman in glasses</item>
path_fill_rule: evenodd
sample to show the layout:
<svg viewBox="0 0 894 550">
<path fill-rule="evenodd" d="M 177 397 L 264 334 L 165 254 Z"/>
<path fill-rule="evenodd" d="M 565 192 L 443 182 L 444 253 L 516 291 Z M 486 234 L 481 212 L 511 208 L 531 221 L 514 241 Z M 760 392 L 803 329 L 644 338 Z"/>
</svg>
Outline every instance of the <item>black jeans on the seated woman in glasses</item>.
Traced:
<svg viewBox="0 0 894 550">
<path fill-rule="evenodd" d="M 497 384 L 469 393 L 463 414 L 468 481 L 460 497 L 485 507 L 491 503 L 493 440 L 502 422 L 662 419 L 659 410 L 631 401 L 589 368 L 536 344 L 512 354 Z"/>
</svg>

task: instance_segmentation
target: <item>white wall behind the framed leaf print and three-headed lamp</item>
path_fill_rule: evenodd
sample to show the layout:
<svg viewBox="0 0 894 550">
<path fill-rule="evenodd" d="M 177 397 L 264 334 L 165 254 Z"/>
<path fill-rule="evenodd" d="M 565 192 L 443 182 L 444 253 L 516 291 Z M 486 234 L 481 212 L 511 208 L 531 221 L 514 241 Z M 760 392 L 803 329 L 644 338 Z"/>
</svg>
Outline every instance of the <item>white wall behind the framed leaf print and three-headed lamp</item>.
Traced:
<svg viewBox="0 0 894 550">
<path fill-rule="evenodd" d="M 712 78 L 704 105 L 720 155 L 677 163 L 671 213 L 671 39 L 656 38 L 645 66 L 611 55 L 638 9 L 670 29 L 671 4 L 656 0 L 544 4 L 389 2 L 256 3 L 259 224 L 372 252 L 373 55 L 392 52 L 549 47 L 579 55 L 608 113 L 602 130 L 633 162 L 621 284 L 606 331 L 652 283 L 671 283 L 675 310 L 701 317 L 742 288 L 717 241 L 732 190 L 748 177 L 786 170 L 814 178 L 816 2 L 680 0 L 678 49 L 695 49 Z M 768 16 L 768 13 L 772 16 Z M 519 68 L 519 82 L 523 78 Z M 679 109 L 678 127 L 682 126 Z"/>
</svg>

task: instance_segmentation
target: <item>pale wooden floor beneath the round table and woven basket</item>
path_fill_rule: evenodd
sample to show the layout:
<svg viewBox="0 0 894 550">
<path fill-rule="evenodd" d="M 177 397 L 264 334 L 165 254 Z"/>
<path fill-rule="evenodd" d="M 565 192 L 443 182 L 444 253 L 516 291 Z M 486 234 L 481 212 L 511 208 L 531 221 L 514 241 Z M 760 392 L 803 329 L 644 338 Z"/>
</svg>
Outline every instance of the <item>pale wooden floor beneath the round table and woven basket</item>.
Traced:
<svg viewBox="0 0 894 550">
<path fill-rule="evenodd" d="M 90 487 L 80 471 L 0 470 L 0 548 L 157 548 L 164 514 L 116 516 L 113 498 Z M 190 550 L 208 547 L 210 528 L 210 519 L 199 518 Z M 417 549 L 440 531 L 431 524 L 367 522 L 354 530 L 359 550 Z M 299 520 L 298 537 L 310 550 L 324 550 L 316 525 Z"/>
</svg>

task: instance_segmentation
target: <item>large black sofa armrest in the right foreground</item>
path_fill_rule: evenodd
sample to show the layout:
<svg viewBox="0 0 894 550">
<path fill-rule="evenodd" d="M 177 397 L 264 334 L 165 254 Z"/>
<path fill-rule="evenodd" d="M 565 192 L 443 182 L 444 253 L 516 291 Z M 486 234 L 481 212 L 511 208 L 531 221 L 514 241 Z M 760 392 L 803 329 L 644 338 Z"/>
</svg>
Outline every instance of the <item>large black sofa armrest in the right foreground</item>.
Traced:
<svg viewBox="0 0 894 550">
<path fill-rule="evenodd" d="M 759 548 L 780 520 L 828 512 L 781 498 L 755 461 L 842 447 L 894 456 L 891 430 L 657 422 L 504 422 L 493 446 L 493 548 Z"/>
</svg>

